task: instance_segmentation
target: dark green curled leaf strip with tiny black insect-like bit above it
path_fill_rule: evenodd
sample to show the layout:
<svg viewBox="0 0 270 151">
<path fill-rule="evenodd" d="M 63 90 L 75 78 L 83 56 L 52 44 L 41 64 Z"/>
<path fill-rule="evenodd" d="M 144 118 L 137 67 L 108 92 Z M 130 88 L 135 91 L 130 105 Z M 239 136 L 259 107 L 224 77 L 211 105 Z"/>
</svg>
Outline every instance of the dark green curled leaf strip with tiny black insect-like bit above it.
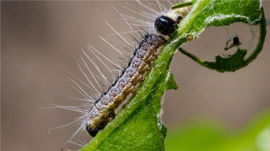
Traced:
<svg viewBox="0 0 270 151">
<path fill-rule="evenodd" d="M 262 9 L 262 8 L 261 8 Z M 263 9 L 261 10 L 263 12 Z M 253 31 L 253 30 L 251 30 Z M 241 69 L 245 66 L 247 66 L 252 60 L 254 60 L 257 55 L 260 53 L 263 47 L 265 35 L 266 35 L 266 23 L 264 15 L 260 18 L 259 21 L 259 36 L 258 36 L 258 42 L 254 48 L 253 51 L 249 55 L 247 54 L 247 49 L 240 49 L 239 45 L 242 43 L 240 42 L 238 36 L 235 36 L 231 39 L 229 39 L 226 42 L 226 46 L 224 48 L 225 51 L 229 51 L 230 48 L 237 47 L 237 50 L 233 54 L 226 54 L 223 56 L 217 55 L 215 56 L 214 61 L 204 61 L 197 56 L 187 52 L 183 48 L 179 48 L 179 51 L 185 54 L 186 56 L 190 57 L 195 62 L 199 63 L 200 65 L 207 67 L 209 69 L 216 70 L 218 72 L 233 72 L 238 69 Z M 254 39 L 254 35 L 251 32 L 251 40 Z M 250 42 L 252 43 L 252 42 Z M 250 47 L 250 46 L 248 46 Z"/>
</svg>

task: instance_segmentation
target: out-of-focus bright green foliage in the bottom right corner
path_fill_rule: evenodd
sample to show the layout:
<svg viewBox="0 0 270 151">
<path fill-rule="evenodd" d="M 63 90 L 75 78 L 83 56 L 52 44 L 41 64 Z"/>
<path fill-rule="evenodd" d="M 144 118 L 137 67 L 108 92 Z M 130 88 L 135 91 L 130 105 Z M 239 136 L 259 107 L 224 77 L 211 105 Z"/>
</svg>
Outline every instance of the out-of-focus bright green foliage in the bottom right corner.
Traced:
<svg viewBox="0 0 270 151">
<path fill-rule="evenodd" d="M 214 120 L 194 121 L 168 132 L 167 151 L 270 151 L 270 112 L 238 132 Z"/>
</svg>

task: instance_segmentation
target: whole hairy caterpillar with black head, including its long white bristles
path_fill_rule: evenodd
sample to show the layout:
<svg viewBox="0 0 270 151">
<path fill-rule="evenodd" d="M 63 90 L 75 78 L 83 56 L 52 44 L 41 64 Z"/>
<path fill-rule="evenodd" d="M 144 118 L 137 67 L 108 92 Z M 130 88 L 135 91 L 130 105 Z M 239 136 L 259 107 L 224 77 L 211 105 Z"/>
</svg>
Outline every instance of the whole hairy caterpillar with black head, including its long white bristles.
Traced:
<svg viewBox="0 0 270 151">
<path fill-rule="evenodd" d="M 119 66 L 114 64 L 112 61 L 110 61 L 108 58 L 100 54 L 92 46 L 90 46 L 89 48 L 99 53 L 102 57 L 104 57 L 106 60 L 108 60 L 109 62 L 117 66 L 117 68 L 119 68 L 120 73 L 118 76 L 115 76 L 115 80 L 112 84 L 110 84 L 108 80 L 106 80 L 104 75 L 98 69 L 95 62 L 92 61 L 86 55 L 84 51 L 83 53 L 88 58 L 88 60 L 95 66 L 95 68 L 98 70 L 99 74 L 101 75 L 101 78 L 89 70 L 86 62 L 82 58 L 81 58 L 82 62 L 75 58 L 79 62 L 78 66 L 80 70 L 82 71 L 83 75 L 85 76 L 87 81 L 90 83 L 90 86 L 93 87 L 93 88 L 90 88 L 91 90 L 93 90 L 94 92 L 98 92 L 98 90 L 94 88 L 93 83 L 90 82 L 89 77 L 87 77 L 86 73 L 82 70 L 81 65 L 83 65 L 87 70 L 89 70 L 89 73 L 94 79 L 95 83 L 98 84 L 95 77 L 99 78 L 100 80 L 102 80 L 103 78 L 103 80 L 105 79 L 105 81 L 108 83 L 109 86 L 105 92 L 101 93 L 98 96 L 94 96 L 93 98 L 90 95 L 88 95 L 76 82 L 74 82 L 71 78 L 68 78 L 70 85 L 71 86 L 74 85 L 72 87 L 76 91 L 78 91 L 83 97 L 85 97 L 85 99 L 77 99 L 77 100 L 88 102 L 86 105 L 76 106 L 76 107 L 56 106 L 58 108 L 72 110 L 72 111 L 76 111 L 82 114 L 82 116 L 75 118 L 73 122 L 66 124 L 64 126 L 56 127 L 56 128 L 61 128 L 68 125 L 72 125 L 76 122 L 81 122 L 82 124 L 77 129 L 77 131 L 73 133 L 73 135 L 71 136 L 71 139 L 76 134 L 78 134 L 79 131 L 81 131 L 83 128 L 86 129 L 87 133 L 90 136 L 94 137 L 100 130 L 102 130 L 105 127 L 105 125 L 111 119 L 114 118 L 115 109 L 127 98 L 127 96 L 130 93 L 132 94 L 136 92 L 136 85 L 143 81 L 145 72 L 151 70 L 152 63 L 153 61 L 156 60 L 157 55 L 158 55 L 158 48 L 166 43 L 166 36 L 170 36 L 177 29 L 177 23 L 179 23 L 179 21 L 189 11 L 189 8 L 167 10 L 166 7 L 162 5 L 159 1 L 156 1 L 158 6 L 160 8 L 163 8 L 164 10 L 155 11 L 152 7 L 150 7 L 150 5 L 145 5 L 140 1 L 137 1 L 137 2 L 142 8 L 139 9 L 139 8 L 133 7 L 132 5 L 128 3 L 127 5 L 137 10 L 132 10 L 125 6 L 124 7 L 127 8 L 128 10 L 139 12 L 139 14 L 142 17 L 146 16 L 148 21 L 147 19 L 145 21 L 141 21 L 140 19 L 134 18 L 132 16 L 121 14 L 114 6 L 111 5 L 117 11 L 117 13 L 124 19 L 124 21 L 129 25 L 129 27 L 132 29 L 132 31 L 124 32 L 124 33 L 134 33 L 136 35 L 136 38 L 134 38 L 134 40 L 137 42 L 135 48 L 131 47 L 131 45 L 127 43 L 125 39 L 120 35 L 123 33 L 117 32 L 107 23 L 109 27 L 115 32 L 115 34 L 113 35 L 119 36 L 132 49 L 133 55 L 132 57 L 128 59 L 127 65 L 125 67 L 120 68 Z M 169 3 L 169 6 L 172 5 L 170 1 L 168 1 L 168 3 Z M 144 11 L 144 9 L 148 9 L 152 12 L 151 13 L 146 12 Z M 139 25 L 141 30 L 134 30 L 133 26 L 136 26 L 136 25 Z M 141 27 L 146 27 L 146 28 L 143 29 Z M 112 44 L 107 42 L 105 39 L 103 39 L 102 37 L 101 39 L 105 41 L 106 43 L 108 43 L 116 51 L 118 51 L 117 48 L 115 48 Z M 96 56 L 96 54 L 93 51 L 92 53 Z M 102 62 L 102 60 L 99 57 L 97 58 L 99 61 Z M 108 67 L 104 63 L 103 65 L 108 69 Z M 69 71 L 67 72 L 71 74 Z M 79 81 L 80 83 L 82 83 L 83 85 L 86 85 L 87 87 L 89 87 L 87 84 L 79 80 L 73 74 L 71 74 L 71 76 L 75 78 L 77 81 Z M 100 86 L 99 88 L 101 89 Z M 82 108 L 85 108 L 85 109 L 82 109 Z M 52 128 L 52 129 L 55 129 L 55 128 Z"/>
</svg>

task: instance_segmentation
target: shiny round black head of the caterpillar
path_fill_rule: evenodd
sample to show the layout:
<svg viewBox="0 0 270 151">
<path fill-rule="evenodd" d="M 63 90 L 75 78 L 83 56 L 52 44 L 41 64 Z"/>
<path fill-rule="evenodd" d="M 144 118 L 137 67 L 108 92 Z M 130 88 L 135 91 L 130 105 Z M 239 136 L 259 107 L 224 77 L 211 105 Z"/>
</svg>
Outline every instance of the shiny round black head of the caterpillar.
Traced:
<svg viewBox="0 0 270 151">
<path fill-rule="evenodd" d="M 168 16 L 161 15 L 154 21 L 154 28 L 163 35 L 170 35 L 177 29 L 177 22 Z"/>
</svg>

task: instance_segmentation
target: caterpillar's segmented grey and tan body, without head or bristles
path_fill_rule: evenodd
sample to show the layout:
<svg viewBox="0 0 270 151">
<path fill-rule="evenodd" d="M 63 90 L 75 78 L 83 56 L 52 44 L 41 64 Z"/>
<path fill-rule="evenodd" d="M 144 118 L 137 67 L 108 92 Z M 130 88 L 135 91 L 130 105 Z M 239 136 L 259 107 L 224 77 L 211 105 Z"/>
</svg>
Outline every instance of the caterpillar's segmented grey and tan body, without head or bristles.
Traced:
<svg viewBox="0 0 270 151">
<path fill-rule="evenodd" d="M 135 92 L 137 83 L 141 82 L 144 73 L 151 69 L 151 64 L 158 54 L 157 49 L 165 42 L 164 37 L 156 34 L 146 34 L 139 42 L 127 67 L 88 112 L 85 128 L 92 137 L 114 117 L 114 110 L 128 94 Z"/>
</svg>

